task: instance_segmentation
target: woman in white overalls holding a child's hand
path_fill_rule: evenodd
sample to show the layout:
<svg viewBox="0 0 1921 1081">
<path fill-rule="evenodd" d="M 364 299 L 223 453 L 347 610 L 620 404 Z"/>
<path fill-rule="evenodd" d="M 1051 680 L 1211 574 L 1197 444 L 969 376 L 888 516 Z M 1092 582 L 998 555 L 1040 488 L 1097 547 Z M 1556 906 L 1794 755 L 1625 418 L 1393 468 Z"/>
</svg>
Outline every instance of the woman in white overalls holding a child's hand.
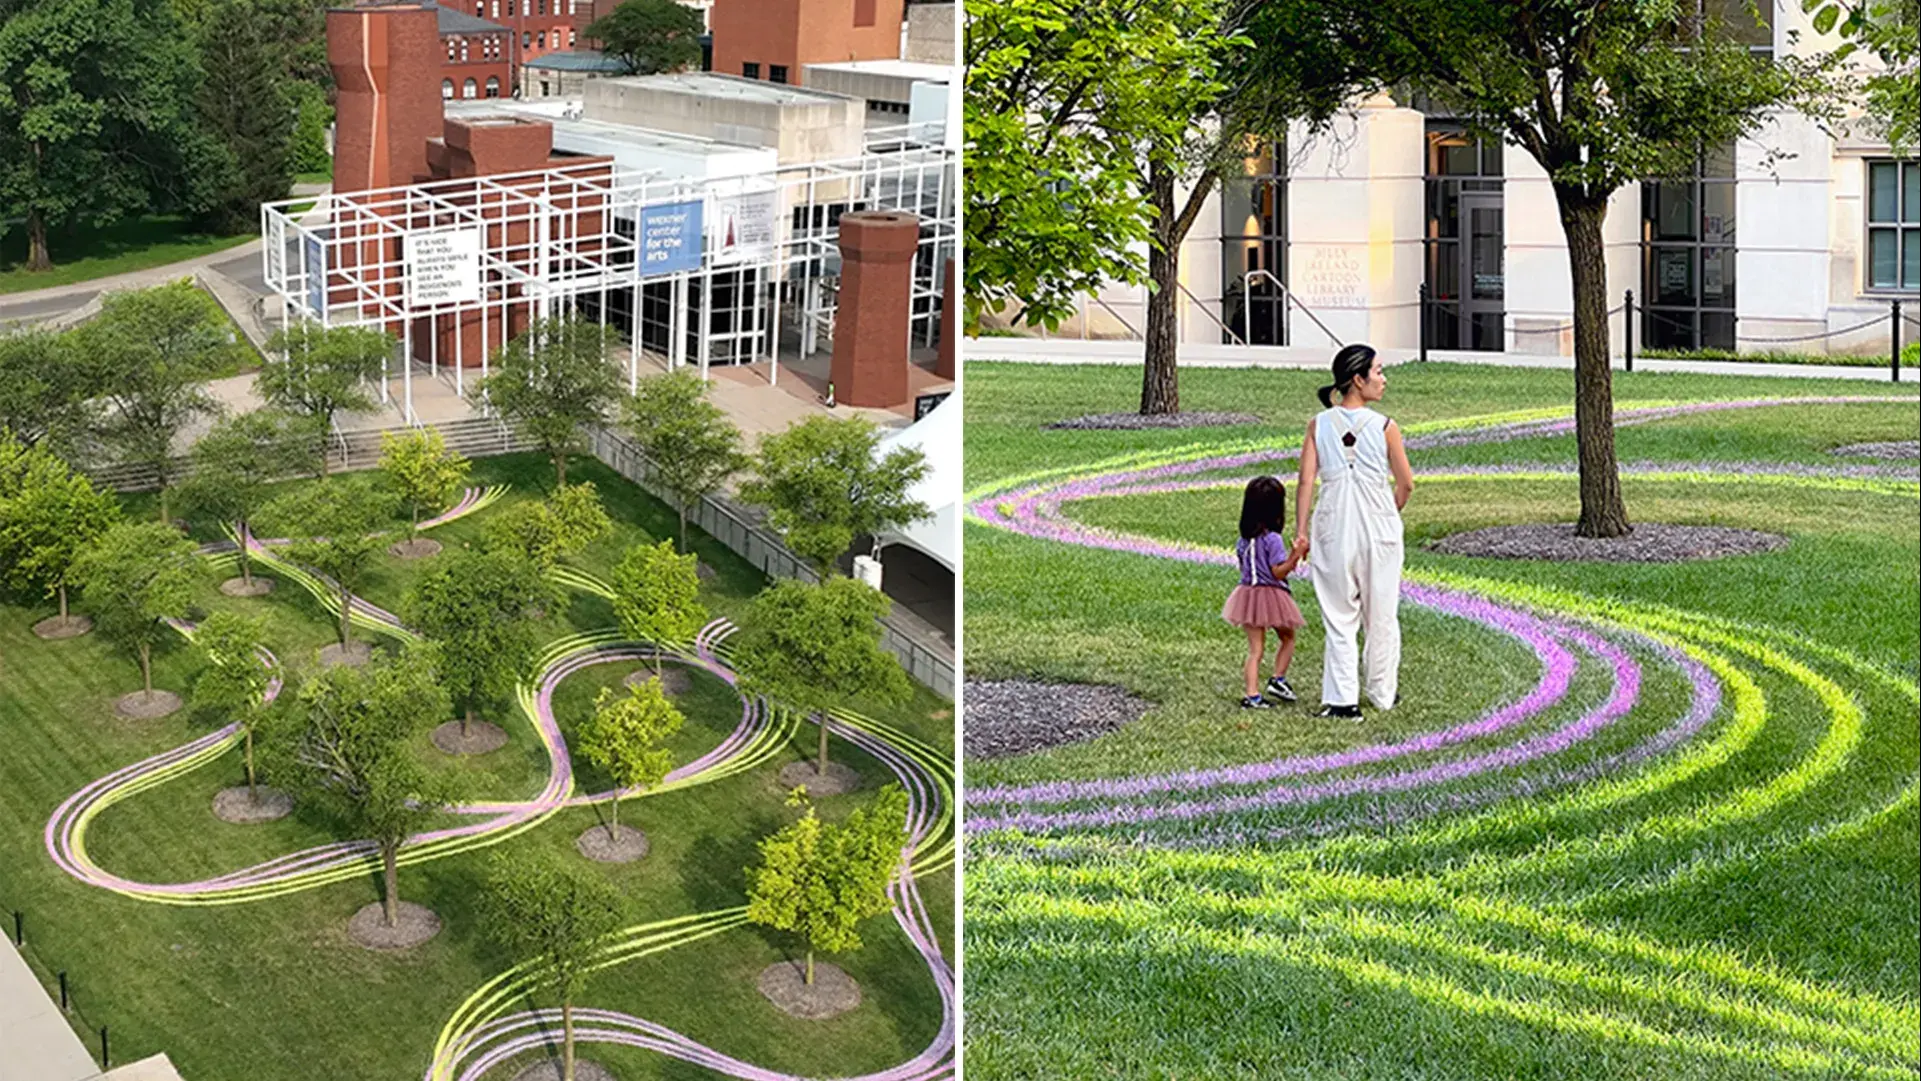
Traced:
<svg viewBox="0 0 1921 1081">
<path fill-rule="evenodd" d="M 1295 538 L 1310 538 L 1314 599 L 1327 628 L 1320 716 L 1360 720 L 1362 661 L 1375 707 L 1395 709 L 1398 695 L 1400 509 L 1414 492 L 1414 470 L 1400 428 L 1370 409 L 1385 392 L 1374 349 L 1347 346 L 1333 357 L 1333 384 L 1320 390 L 1327 409 L 1308 420 L 1301 445 Z M 1366 659 L 1356 651 L 1356 634 L 1368 639 Z"/>
</svg>

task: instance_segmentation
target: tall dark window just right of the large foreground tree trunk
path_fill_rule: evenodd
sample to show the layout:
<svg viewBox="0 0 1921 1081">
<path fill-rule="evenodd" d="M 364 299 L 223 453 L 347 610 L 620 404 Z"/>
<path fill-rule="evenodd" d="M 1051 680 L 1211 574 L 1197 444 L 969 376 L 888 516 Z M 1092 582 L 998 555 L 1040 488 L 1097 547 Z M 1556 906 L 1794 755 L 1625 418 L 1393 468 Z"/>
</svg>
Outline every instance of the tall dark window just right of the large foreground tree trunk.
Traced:
<svg viewBox="0 0 1921 1081">
<path fill-rule="evenodd" d="M 1735 349 L 1735 148 L 1641 184 L 1641 342 Z"/>
</svg>

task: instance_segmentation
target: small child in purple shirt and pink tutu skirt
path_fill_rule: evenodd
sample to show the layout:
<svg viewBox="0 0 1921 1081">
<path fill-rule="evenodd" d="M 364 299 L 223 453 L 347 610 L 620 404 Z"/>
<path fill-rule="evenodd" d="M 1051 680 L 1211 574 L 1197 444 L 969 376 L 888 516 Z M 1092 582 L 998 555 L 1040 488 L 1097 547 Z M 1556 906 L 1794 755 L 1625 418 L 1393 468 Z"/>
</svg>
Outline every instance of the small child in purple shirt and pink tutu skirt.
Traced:
<svg viewBox="0 0 1921 1081">
<path fill-rule="evenodd" d="M 1281 540 L 1285 516 L 1287 488 L 1277 478 L 1256 476 L 1247 482 L 1247 492 L 1241 495 L 1241 540 L 1233 545 L 1235 563 L 1241 565 L 1241 584 L 1228 593 L 1228 603 L 1220 609 L 1220 618 L 1247 632 L 1243 668 L 1247 697 L 1241 699 L 1241 709 L 1268 709 L 1260 687 L 1260 659 L 1268 651 L 1270 628 L 1277 645 L 1274 678 L 1268 680 L 1266 693 L 1283 703 L 1295 701 L 1295 689 L 1287 685 L 1287 666 L 1295 659 L 1295 628 L 1306 620 L 1287 588 L 1287 576 L 1301 565 L 1301 543 L 1289 547 Z"/>
</svg>

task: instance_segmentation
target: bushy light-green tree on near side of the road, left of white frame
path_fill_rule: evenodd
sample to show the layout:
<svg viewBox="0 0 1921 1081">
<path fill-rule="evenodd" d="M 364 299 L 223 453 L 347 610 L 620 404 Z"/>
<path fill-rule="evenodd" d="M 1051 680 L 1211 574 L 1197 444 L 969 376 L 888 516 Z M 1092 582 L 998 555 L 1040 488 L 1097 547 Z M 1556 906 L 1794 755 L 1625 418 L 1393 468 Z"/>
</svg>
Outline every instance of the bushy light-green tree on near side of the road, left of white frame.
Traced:
<svg viewBox="0 0 1921 1081">
<path fill-rule="evenodd" d="M 94 438 L 109 461 L 154 470 L 165 522 L 179 470 L 173 442 L 221 411 L 206 384 L 238 367 L 244 346 L 221 305 L 190 280 L 109 294 L 75 336 L 75 355 L 106 403 L 96 411 Z"/>
</svg>

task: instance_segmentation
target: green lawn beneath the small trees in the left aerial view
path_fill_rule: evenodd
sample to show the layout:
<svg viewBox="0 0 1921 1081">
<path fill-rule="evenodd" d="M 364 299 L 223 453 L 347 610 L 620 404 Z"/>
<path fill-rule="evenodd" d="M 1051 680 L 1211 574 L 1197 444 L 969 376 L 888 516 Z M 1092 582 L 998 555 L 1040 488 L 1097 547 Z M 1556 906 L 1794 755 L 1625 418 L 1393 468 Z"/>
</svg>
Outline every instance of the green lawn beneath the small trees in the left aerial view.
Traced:
<svg viewBox="0 0 1921 1081">
<path fill-rule="evenodd" d="M 576 463 L 571 480 L 594 480 L 617 522 L 576 565 L 605 576 L 626 545 L 670 536 L 672 513 L 596 463 Z M 505 503 L 540 497 L 551 470 L 532 455 L 474 463 L 474 482 L 509 482 L 513 492 L 471 518 L 436 530 L 448 545 L 473 543 Z M 152 513 L 150 497 L 129 499 L 131 513 Z M 211 524 L 192 524 L 198 538 Z M 757 570 L 701 534 L 693 547 L 717 574 L 703 582 L 715 614 L 740 616 Z M 430 561 L 384 559 L 365 595 L 401 609 L 401 595 Z M 271 572 L 267 572 L 271 574 Z M 334 634 L 332 620 L 302 589 L 280 584 L 267 599 L 221 597 L 211 580 L 202 609 L 232 607 L 269 618 L 269 639 L 292 668 L 311 668 Z M 446 929 L 411 952 L 373 954 L 346 939 L 346 918 L 378 897 L 375 874 L 246 904 L 182 908 L 125 899 L 83 885 L 56 868 L 40 831 L 52 810 L 81 785 L 119 766 L 177 747 L 207 732 L 207 720 L 182 710 L 158 722 L 113 716 L 119 693 L 138 687 L 138 670 L 98 636 L 46 643 L 29 634 L 44 605 L 0 607 L 0 912 L 29 920 L 35 960 L 71 973 L 85 1021 L 109 1025 L 115 1062 L 167 1052 L 196 1081 L 284 1077 L 419 1077 L 442 1025 L 482 983 L 515 958 L 488 945 L 476 897 L 490 851 L 465 853 L 401 870 L 401 897 L 434 908 Z M 605 601 L 574 595 L 553 618 L 553 637 L 613 622 Z M 365 632 L 357 634 L 365 636 Z M 382 647 L 388 647 L 382 643 Z M 200 666 L 184 645 L 167 649 L 156 685 L 188 689 Z M 571 732 L 592 710 L 594 693 L 636 664 L 599 664 L 565 680 L 557 716 Z M 680 697 L 688 726 L 674 741 L 678 760 L 718 743 L 740 720 L 740 699 L 718 680 L 695 676 Z M 951 703 L 918 689 L 897 709 L 872 709 L 930 743 L 953 747 Z M 505 709 L 488 716 L 509 732 L 509 745 L 486 758 L 451 762 L 421 753 L 434 768 L 461 774 L 476 799 L 524 799 L 544 781 L 546 757 L 524 716 Z M 636 924 L 742 904 L 743 868 L 757 841 L 791 818 L 774 776 L 805 758 L 813 733 L 799 732 L 782 755 L 757 770 L 657 797 L 628 801 L 622 824 L 647 831 L 653 851 L 636 864 L 603 868 L 632 906 Z M 886 770 L 853 747 L 836 755 L 878 785 Z M 607 780 L 580 768 L 578 791 Z M 184 778 L 134 795 L 88 828 L 88 853 L 104 868 L 142 881 L 190 881 L 236 870 L 275 854 L 338 839 L 336 824 L 309 810 L 238 828 L 217 822 L 209 801 L 242 780 L 238 751 Z M 870 789 L 868 789 L 870 793 Z M 839 818 L 861 793 L 820 801 L 822 816 Z M 574 837 L 601 822 L 601 806 L 563 810 L 498 851 L 547 847 L 572 851 Z M 953 877 L 922 879 L 943 941 L 951 943 Z M 755 975 L 791 956 L 793 941 L 755 927 L 632 960 L 597 973 L 582 1004 L 620 1010 L 670 1025 L 718 1050 L 807 1075 L 882 1069 L 920 1052 L 939 1025 L 939 995 L 918 954 L 893 925 L 864 925 L 866 949 L 836 956 L 863 989 L 863 1004 L 832 1021 L 795 1021 L 755 991 Z M 526 1002 L 517 1008 L 549 1006 Z M 88 1037 L 92 1041 L 92 1037 Z M 584 1054 L 624 1079 L 705 1077 L 703 1069 L 632 1048 L 584 1045 Z M 499 1075 L 511 1075 L 503 1068 Z"/>
</svg>

